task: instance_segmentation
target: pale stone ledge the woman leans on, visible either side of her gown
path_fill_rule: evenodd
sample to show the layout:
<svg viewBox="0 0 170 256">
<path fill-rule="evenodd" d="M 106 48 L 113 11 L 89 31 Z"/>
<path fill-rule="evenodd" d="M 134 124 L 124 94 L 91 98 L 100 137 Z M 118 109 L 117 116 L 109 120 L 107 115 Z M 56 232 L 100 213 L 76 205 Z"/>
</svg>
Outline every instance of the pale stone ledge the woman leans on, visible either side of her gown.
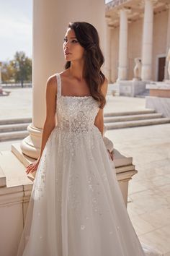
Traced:
<svg viewBox="0 0 170 256">
<path fill-rule="evenodd" d="M 117 181 L 120 184 L 125 205 L 128 198 L 128 182 L 138 171 L 133 165 L 133 158 L 122 155 L 114 149 L 114 166 Z M 2 151 L 0 174 L 3 187 L 0 189 L 0 205 L 12 205 L 29 202 L 33 182 L 27 178 L 25 166 L 35 161 L 22 153 L 19 143 L 12 144 L 12 151 Z M 114 171 L 114 170 L 113 170 Z M 7 182 L 5 182 L 5 180 Z M 4 182 L 4 183 L 3 183 Z"/>
</svg>

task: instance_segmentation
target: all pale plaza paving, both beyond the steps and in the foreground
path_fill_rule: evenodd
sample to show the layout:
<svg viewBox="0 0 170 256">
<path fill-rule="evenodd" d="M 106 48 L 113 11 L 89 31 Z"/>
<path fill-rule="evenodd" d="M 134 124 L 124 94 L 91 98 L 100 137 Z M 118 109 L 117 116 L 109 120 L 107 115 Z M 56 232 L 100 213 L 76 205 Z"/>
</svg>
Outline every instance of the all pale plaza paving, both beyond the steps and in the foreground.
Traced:
<svg viewBox="0 0 170 256">
<path fill-rule="evenodd" d="M 32 89 L 11 89 L 0 98 L 0 119 L 31 116 Z M 107 97 L 105 112 L 145 108 L 145 99 Z M 140 241 L 170 256 L 170 124 L 109 130 L 120 153 L 133 156 L 138 174 L 129 187 L 128 212 Z M 1 142 L 10 150 L 12 142 Z"/>
</svg>

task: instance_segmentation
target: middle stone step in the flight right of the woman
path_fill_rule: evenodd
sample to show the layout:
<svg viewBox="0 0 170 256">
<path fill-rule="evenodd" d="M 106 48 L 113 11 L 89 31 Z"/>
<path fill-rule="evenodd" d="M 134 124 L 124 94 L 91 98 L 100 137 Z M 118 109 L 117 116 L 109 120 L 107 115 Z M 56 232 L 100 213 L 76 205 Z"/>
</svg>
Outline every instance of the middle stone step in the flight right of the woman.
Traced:
<svg viewBox="0 0 170 256">
<path fill-rule="evenodd" d="M 107 116 L 104 117 L 104 123 L 112 123 L 116 121 L 133 121 L 133 120 L 141 120 L 141 119 L 158 119 L 161 118 L 162 114 L 153 113 L 153 114 L 136 114 L 136 115 L 128 115 L 128 116 Z"/>
</svg>

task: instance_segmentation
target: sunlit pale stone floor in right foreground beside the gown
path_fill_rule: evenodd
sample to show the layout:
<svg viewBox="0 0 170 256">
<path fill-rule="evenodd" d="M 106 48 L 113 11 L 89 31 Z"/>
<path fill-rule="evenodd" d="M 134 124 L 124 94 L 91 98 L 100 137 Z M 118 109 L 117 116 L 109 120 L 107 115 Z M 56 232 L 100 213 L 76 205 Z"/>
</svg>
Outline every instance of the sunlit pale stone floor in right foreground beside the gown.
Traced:
<svg viewBox="0 0 170 256">
<path fill-rule="evenodd" d="M 170 256 L 170 124 L 106 135 L 138 170 L 129 182 L 128 213 L 140 241 Z"/>
</svg>

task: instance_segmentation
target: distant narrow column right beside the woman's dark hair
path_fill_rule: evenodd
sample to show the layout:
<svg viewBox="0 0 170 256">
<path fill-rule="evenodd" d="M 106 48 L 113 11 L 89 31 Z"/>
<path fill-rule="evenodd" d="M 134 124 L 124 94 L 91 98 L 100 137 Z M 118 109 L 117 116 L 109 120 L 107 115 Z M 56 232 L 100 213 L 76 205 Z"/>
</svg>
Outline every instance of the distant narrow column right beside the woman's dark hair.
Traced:
<svg viewBox="0 0 170 256">
<path fill-rule="evenodd" d="M 111 82 L 111 69 L 112 69 L 112 67 L 111 67 L 112 25 L 109 25 L 110 21 L 111 21 L 111 19 L 106 17 L 106 22 L 105 22 L 105 26 L 106 26 L 106 49 L 105 49 L 105 53 L 106 53 L 106 55 L 104 56 L 104 59 L 105 59 L 105 75 L 106 75 L 109 82 Z"/>
</svg>

